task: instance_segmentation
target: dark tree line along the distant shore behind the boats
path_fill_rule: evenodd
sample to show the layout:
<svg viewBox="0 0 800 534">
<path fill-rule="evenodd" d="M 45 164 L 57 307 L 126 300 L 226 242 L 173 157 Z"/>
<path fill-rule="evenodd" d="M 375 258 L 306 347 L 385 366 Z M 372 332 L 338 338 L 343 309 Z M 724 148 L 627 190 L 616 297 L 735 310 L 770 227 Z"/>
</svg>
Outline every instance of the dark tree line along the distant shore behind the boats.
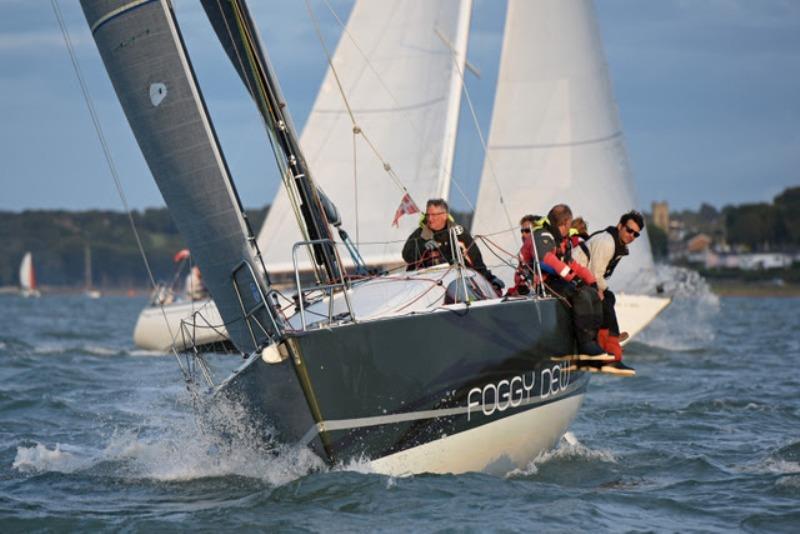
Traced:
<svg viewBox="0 0 800 534">
<path fill-rule="evenodd" d="M 269 206 L 247 210 L 255 231 L 261 227 Z M 142 240 L 150 268 L 157 280 L 172 277 L 172 258 L 185 247 L 166 208 L 134 211 L 134 224 Z M 470 226 L 472 213 L 454 213 Z M 722 231 L 732 245 L 752 250 L 800 247 L 800 187 L 786 189 L 773 203 L 725 206 L 717 211 L 703 204 L 697 212 L 684 210 L 675 216 L 691 221 L 700 231 Z M 715 230 L 716 229 L 716 230 Z M 666 234 L 648 225 L 656 257 L 666 255 Z M 92 258 L 96 287 L 143 288 L 149 285 L 147 271 L 131 230 L 128 215 L 118 211 L 27 210 L 0 212 L 0 286 L 18 283 L 22 256 L 31 251 L 40 284 L 80 287 L 84 284 L 85 249 Z"/>
</svg>

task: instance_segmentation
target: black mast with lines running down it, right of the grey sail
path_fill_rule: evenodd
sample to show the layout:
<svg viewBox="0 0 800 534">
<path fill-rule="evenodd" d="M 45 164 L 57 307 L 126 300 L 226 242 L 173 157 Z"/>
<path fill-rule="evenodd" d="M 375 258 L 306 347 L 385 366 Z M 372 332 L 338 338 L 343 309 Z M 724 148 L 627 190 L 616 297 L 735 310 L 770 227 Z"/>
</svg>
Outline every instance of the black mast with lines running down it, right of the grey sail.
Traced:
<svg viewBox="0 0 800 534">
<path fill-rule="evenodd" d="M 296 193 L 292 197 L 297 199 L 297 208 L 302 216 L 301 230 L 305 239 L 329 240 L 329 243 L 313 245 L 317 279 L 335 283 L 340 278 L 340 266 L 333 250 L 334 236 L 300 150 L 286 100 L 269 58 L 261 47 L 247 4 L 244 0 L 202 0 L 202 4 L 225 51 L 264 118 L 284 185 Z"/>
</svg>

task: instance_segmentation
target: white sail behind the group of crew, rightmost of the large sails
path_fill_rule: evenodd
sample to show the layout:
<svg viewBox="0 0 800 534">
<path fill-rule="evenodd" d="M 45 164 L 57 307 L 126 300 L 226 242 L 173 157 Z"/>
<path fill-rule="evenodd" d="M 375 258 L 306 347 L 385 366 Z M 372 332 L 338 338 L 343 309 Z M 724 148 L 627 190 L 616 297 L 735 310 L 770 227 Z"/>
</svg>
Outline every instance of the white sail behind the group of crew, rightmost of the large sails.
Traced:
<svg viewBox="0 0 800 534">
<path fill-rule="evenodd" d="M 638 206 L 634 191 L 591 1 L 509 0 L 473 234 L 514 254 L 523 215 L 563 202 L 601 230 Z M 613 282 L 634 289 L 652 267 L 644 233 Z M 510 281 L 513 267 L 492 269 Z"/>
</svg>

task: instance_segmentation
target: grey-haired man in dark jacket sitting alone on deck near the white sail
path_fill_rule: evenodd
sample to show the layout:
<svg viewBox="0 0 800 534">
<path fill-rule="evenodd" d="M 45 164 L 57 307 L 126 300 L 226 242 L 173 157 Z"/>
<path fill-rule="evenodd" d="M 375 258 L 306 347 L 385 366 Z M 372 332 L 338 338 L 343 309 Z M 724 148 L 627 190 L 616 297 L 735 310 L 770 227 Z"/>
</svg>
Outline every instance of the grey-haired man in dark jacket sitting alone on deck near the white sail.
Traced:
<svg viewBox="0 0 800 534">
<path fill-rule="evenodd" d="M 456 258 L 453 257 L 450 243 L 451 230 L 456 235 L 467 267 L 482 274 L 496 291 L 502 290 L 505 284 L 483 263 L 477 243 L 463 226 L 455 222 L 447 202 L 441 198 L 428 200 L 419 228 L 408 236 L 403 246 L 403 260 L 408 264 L 407 270 L 414 271 L 440 263 L 454 264 Z"/>
</svg>

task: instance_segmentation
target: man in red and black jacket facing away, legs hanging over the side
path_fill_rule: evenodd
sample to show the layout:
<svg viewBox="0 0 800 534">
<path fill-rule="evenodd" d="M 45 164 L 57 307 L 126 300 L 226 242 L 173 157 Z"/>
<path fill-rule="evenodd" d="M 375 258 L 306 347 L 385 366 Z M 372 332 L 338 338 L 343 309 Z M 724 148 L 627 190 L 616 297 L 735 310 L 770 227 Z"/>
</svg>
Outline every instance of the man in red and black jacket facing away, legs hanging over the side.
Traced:
<svg viewBox="0 0 800 534">
<path fill-rule="evenodd" d="M 566 204 L 553 206 L 547 217 L 539 219 L 533 235 L 525 239 L 520 250 L 521 268 L 534 278 L 538 260 L 545 287 L 552 294 L 566 298 L 572 305 L 575 338 L 581 354 L 597 356 L 605 351 L 595 341 L 602 320 L 602 307 L 597 297 L 597 280 L 592 272 L 572 258 L 569 229 L 572 210 Z M 518 269 L 518 273 L 520 269 Z M 520 290 L 520 278 L 516 279 Z"/>
</svg>

